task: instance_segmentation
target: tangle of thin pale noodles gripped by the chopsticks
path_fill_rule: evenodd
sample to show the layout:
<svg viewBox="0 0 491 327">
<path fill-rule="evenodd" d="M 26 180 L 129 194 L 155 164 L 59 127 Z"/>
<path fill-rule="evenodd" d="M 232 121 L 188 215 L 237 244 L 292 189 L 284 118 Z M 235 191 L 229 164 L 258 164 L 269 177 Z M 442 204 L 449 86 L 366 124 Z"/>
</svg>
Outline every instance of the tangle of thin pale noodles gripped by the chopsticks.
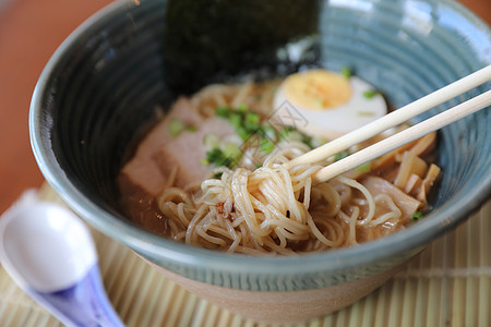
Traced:
<svg viewBox="0 0 491 327">
<path fill-rule="evenodd" d="M 306 150 L 294 149 L 289 145 L 287 153 Z M 311 175 L 322 166 L 301 165 L 288 171 L 283 164 L 289 159 L 278 150 L 254 171 L 220 168 L 219 180 L 205 180 L 190 194 L 164 191 L 158 206 L 172 226 L 171 237 L 228 252 L 291 254 L 356 244 L 357 226 L 376 227 L 400 217 L 385 196 L 379 201 L 392 202 L 391 211 L 373 219 L 378 199 L 362 184 L 338 177 L 337 186 L 328 182 L 313 186 Z M 368 215 L 362 216 L 351 201 L 343 204 L 336 187 L 361 193 Z"/>
</svg>

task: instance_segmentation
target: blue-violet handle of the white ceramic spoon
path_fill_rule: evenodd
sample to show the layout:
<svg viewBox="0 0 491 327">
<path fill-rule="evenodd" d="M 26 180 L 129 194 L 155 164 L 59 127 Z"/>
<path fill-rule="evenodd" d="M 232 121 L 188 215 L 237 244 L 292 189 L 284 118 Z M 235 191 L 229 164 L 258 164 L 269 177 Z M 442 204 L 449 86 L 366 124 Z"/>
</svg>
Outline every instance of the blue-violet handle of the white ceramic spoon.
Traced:
<svg viewBox="0 0 491 327">
<path fill-rule="evenodd" d="M 69 326 L 124 326 L 109 300 L 95 264 L 76 284 L 55 292 L 29 292 Z"/>
</svg>

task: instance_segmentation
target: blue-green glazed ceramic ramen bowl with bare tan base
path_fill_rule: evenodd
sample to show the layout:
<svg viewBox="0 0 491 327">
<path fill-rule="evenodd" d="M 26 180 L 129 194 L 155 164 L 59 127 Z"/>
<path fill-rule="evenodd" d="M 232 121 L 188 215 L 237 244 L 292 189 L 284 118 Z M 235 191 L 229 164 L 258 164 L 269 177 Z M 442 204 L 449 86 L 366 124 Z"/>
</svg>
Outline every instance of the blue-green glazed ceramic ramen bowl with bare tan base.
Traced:
<svg viewBox="0 0 491 327">
<path fill-rule="evenodd" d="M 87 20 L 55 52 L 35 88 L 34 154 L 68 206 L 178 284 L 256 320 L 324 315 L 381 286 L 489 196 L 489 108 L 439 132 L 443 177 L 423 219 L 358 246 L 297 256 L 227 254 L 133 223 L 117 186 L 129 149 L 156 120 L 156 108 L 179 95 L 302 66 L 349 66 L 398 108 L 491 63 L 491 33 L 456 1 L 230 3 L 118 1 Z"/>
</svg>

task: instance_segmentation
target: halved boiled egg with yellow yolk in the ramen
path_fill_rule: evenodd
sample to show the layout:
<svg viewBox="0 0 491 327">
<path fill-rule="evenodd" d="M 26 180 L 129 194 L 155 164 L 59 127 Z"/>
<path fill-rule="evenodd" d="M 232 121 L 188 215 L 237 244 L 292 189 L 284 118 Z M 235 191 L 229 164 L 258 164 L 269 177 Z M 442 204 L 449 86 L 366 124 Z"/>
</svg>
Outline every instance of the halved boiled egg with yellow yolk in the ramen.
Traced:
<svg viewBox="0 0 491 327">
<path fill-rule="evenodd" d="M 326 70 L 289 75 L 276 90 L 273 105 L 276 112 L 288 111 L 296 117 L 279 119 L 283 124 L 326 138 L 340 136 L 387 112 L 385 99 L 372 85 Z"/>
</svg>

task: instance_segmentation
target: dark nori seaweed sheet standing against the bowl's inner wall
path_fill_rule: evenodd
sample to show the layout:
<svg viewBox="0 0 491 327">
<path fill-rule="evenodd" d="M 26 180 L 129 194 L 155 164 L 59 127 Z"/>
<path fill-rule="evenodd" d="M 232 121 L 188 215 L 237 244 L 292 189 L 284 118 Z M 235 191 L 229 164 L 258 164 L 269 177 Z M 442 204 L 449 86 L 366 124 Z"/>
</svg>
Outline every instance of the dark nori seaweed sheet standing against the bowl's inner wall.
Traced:
<svg viewBox="0 0 491 327">
<path fill-rule="evenodd" d="M 163 43 L 166 81 L 192 93 L 251 70 L 275 72 L 287 64 L 295 71 L 314 55 L 285 62 L 278 49 L 316 35 L 320 7 L 318 0 L 170 0 Z"/>
</svg>

